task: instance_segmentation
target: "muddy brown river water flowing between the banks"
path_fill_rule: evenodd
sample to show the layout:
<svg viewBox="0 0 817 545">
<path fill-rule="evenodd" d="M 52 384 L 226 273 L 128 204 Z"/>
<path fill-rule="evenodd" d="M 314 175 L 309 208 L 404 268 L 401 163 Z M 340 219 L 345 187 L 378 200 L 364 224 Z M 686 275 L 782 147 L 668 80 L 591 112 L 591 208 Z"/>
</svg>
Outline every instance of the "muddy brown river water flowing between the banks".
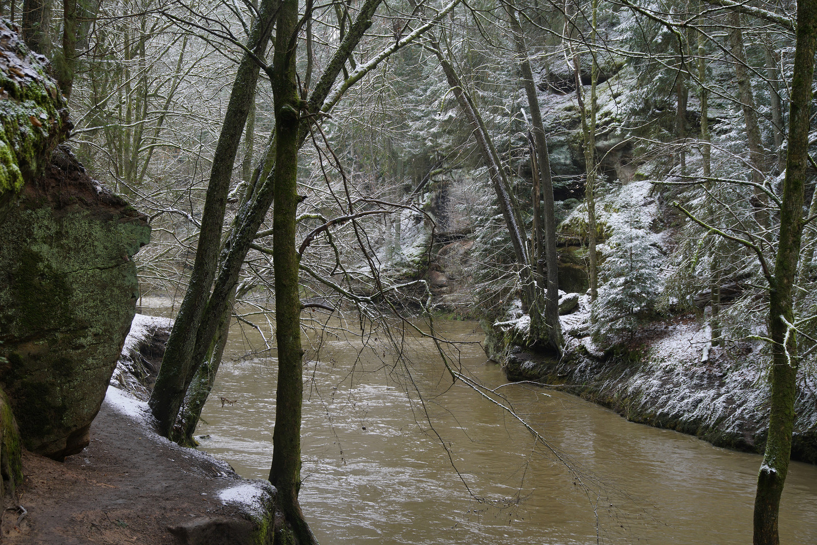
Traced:
<svg viewBox="0 0 817 545">
<path fill-rule="evenodd" d="M 483 339 L 473 322 L 435 325 L 451 339 Z M 760 456 L 509 385 L 479 344 L 459 346 L 463 373 L 502 393 L 553 453 L 510 413 L 452 384 L 428 339 L 406 339 L 403 366 L 374 337 L 377 348 L 339 336 L 306 354 L 300 498 L 320 543 L 752 543 Z M 261 479 L 276 372 L 275 351 L 263 348 L 259 333 L 234 327 L 197 431 L 200 449 Z M 221 397 L 234 403 L 222 407 Z M 817 543 L 817 467 L 792 462 L 780 534 Z"/>
</svg>

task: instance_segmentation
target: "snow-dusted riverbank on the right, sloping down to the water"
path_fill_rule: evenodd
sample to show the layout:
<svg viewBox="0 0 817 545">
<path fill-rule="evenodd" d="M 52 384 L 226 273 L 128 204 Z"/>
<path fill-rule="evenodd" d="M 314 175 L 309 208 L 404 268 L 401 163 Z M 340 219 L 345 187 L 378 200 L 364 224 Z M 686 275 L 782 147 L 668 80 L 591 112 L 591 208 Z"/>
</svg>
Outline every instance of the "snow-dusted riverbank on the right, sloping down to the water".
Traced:
<svg viewBox="0 0 817 545">
<path fill-rule="evenodd" d="M 559 388 L 613 409 L 632 422 L 696 436 L 715 446 L 762 453 L 769 420 L 769 356 L 760 342 L 708 346 L 694 315 L 648 324 L 618 350 L 587 336 L 589 301 L 562 316 L 560 359 L 520 346 L 524 335 L 493 325 L 486 351 L 512 381 Z M 817 463 L 817 382 L 801 370 L 792 459 Z"/>
</svg>

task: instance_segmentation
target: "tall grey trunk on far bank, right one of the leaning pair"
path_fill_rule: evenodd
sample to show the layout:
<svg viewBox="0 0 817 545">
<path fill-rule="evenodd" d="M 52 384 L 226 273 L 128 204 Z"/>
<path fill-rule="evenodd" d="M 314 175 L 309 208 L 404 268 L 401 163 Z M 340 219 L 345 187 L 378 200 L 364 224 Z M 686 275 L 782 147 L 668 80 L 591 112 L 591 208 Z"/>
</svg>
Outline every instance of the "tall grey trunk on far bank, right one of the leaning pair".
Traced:
<svg viewBox="0 0 817 545">
<path fill-rule="evenodd" d="M 525 95 L 528 98 L 530 121 L 534 127 L 534 149 L 538 166 L 534 171 L 534 176 L 537 174 L 538 176 L 534 177 L 534 180 L 538 178 L 538 180 L 542 182 L 542 199 L 544 200 L 544 207 L 542 208 L 544 237 L 541 236 L 541 231 L 538 229 L 539 226 L 536 225 L 534 227 L 534 241 L 538 246 L 538 252 L 534 252 L 534 260 L 536 261 L 534 266 L 536 266 L 538 275 L 541 277 L 542 266 L 540 263 L 542 256 L 539 252 L 543 249 L 545 254 L 544 261 L 547 264 L 547 292 L 545 294 L 545 327 L 547 327 L 547 339 L 551 346 L 556 348 L 556 350 L 560 350 L 563 341 L 559 321 L 559 258 L 556 252 L 556 212 L 553 202 L 551 161 L 547 154 L 547 138 L 545 136 L 544 124 L 542 123 L 542 112 L 541 109 L 539 109 L 534 74 L 530 68 L 525 34 L 523 34 L 519 20 L 516 18 L 515 8 L 509 5 L 507 11 L 511 20 L 511 32 L 516 42 L 516 53 L 519 56 L 522 84 L 525 87 Z M 531 159 L 533 159 L 533 154 L 531 155 Z M 536 184 L 534 188 L 534 222 L 537 224 L 539 220 L 539 191 L 540 188 L 538 184 Z"/>
</svg>

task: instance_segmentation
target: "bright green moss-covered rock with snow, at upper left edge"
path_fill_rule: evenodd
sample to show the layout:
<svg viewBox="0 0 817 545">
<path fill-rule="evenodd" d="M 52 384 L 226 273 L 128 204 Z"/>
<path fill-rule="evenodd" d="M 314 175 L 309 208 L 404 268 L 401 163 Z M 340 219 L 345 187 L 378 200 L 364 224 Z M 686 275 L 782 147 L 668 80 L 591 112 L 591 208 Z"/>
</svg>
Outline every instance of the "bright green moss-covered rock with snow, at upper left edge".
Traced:
<svg viewBox="0 0 817 545">
<path fill-rule="evenodd" d="M 0 223 L 71 128 L 65 97 L 48 76 L 47 62 L 0 20 Z"/>
</svg>

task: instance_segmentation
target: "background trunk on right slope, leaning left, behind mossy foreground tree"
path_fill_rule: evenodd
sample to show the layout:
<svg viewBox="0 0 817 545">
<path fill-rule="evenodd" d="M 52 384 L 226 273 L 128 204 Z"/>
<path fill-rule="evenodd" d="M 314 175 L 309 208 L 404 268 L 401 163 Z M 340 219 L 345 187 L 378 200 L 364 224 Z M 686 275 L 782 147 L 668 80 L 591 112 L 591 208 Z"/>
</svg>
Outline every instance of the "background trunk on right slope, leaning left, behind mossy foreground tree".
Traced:
<svg viewBox="0 0 817 545">
<path fill-rule="evenodd" d="M 752 181 L 763 183 L 766 172 L 761 146 L 761 129 L 757 123 L 755 98 L 752 93 L 752 81 L 749 78 L 746 51 L 743 48 L 743 30 L 741 18 L 737 11 L 732 12 L 732 31 L 730 34 L 732 55 L 734 56 L 734 76 L 738 80 L 740 105 L 743 107 L 743 119 L 746 122 L 746 138 L 749 148 L 749 164 L 752 167 Z M 752 206 L 755 208 L 755 218 L 761 227 L 769 226 L 769 212 L 766 209 L 766 195 L 757 188 L 752 194 Z"/>
</svg>

